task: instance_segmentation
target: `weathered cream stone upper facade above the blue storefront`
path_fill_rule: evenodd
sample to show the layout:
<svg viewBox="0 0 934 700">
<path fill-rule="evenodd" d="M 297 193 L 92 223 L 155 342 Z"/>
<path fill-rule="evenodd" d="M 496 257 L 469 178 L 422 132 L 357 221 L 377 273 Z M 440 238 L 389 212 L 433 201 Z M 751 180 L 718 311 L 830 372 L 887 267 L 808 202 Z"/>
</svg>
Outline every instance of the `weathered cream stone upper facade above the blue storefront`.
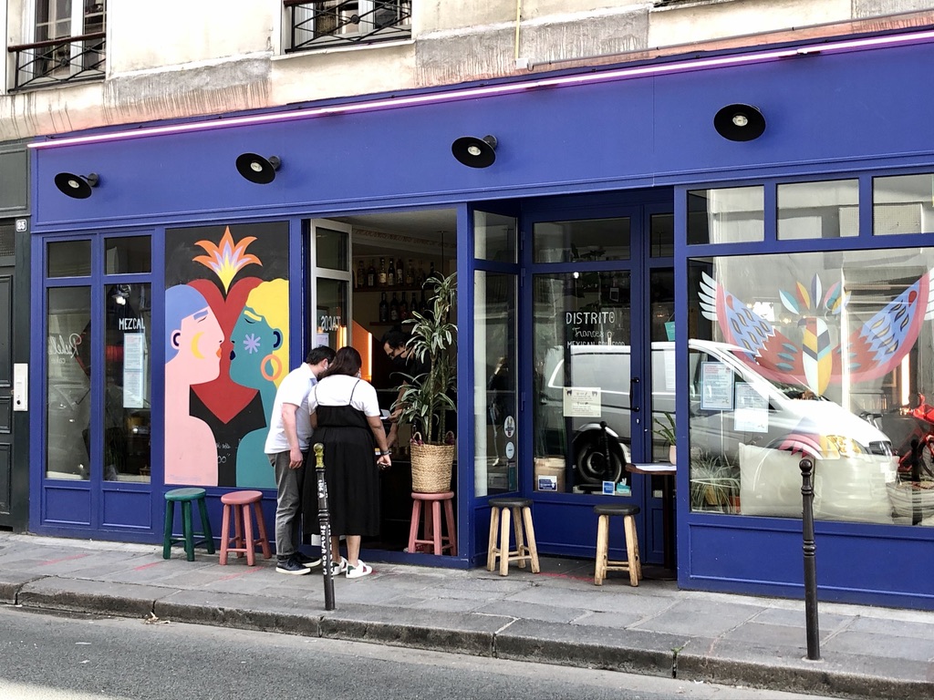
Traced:
<svg viewBox="0 0 934 700">
<path fill-rule="evenodd" d="M 0 142 L 924 25 L 926 0 L 9 0 Z"/>
</svg>

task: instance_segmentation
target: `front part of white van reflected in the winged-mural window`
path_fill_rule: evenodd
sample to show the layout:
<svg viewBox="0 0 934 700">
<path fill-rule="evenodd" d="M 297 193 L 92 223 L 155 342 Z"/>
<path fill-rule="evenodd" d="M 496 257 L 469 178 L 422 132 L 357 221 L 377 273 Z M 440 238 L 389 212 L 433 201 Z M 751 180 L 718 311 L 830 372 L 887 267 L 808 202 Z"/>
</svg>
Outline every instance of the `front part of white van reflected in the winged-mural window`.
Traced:
<svg viewBox="0 0 934 700">
<path fill-rule="evenodd" d="M 814 459 L 814 517 L 892 522 L 887 484 L 895 481 L 892 443 L 877 427 L 795 383 L 773 382 L 746 364 L 743 349 L 692 341 L 691 447 L 739 465 L 744 515 L 800 517 L 802 456 Z M 705 408 L 704 364 L 737 405 Z M 747 405 L 738 405 L 739 397 Z"/>
</svg>

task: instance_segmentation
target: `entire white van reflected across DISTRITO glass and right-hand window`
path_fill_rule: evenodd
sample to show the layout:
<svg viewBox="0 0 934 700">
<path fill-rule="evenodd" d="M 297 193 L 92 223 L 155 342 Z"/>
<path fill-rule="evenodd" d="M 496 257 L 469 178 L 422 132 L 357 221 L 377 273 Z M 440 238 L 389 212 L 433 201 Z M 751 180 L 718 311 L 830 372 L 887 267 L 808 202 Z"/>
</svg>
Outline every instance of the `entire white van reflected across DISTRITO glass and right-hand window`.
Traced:
<svg viewBox="0 0 934 700">
<path fill-rule="evenodd" d="M 798 463 L 802 455 L 810 455 L 815 460 L 817 517 L 892 522 L 886 484 L 895 480 L 898 465 L 884 433 L 803 385 L 766 379 L 738 357 L 743 353 L 726 343 L 689 341 L 686 387 L 691 454 L 713 455 L 736 469 L 742 512 L 800 516 Z M 715 370 L 721 388 L 727 387 L 729 409 L 701 400 L 705 363 L 719 364 Z M 641 422 L 646 431 L 662 413 L 674 411 L 674 343 L 652 343 L 651 365 L 651 401 L 641 394 L 641 386 L 636 390 L 642 412 L 651 412 Z M 618 480 L 630 459 L 630 346 L 552 348 L 545 357 L 544 379 L 537 424 L 548 436 L 563 434 L 570 422 L 574 483 L 590 490 L 603 480 Z M 600 387 L 600 419 L 564 418 L 564 386 Z M 750 407 L 740 407 L 743 411 L 733 406 L 738 386 L 742 396 L 751 398 Z M 655 454 L 664 454 L 658 438 L 653 441 Z"/>
</svg>

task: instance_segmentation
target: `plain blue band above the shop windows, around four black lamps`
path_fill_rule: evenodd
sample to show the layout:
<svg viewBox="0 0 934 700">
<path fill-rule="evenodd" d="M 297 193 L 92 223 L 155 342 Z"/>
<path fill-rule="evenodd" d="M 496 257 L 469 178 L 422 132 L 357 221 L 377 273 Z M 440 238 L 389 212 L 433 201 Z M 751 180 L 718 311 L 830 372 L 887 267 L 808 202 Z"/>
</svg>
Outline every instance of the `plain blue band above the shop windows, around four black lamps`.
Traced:
<svg viewBox="0 0 934 700">
<path fill-rule="evenodd" d="M 196 221 L 235 212 L 277 216 L 539 193 L 712 182 L 753 175 L 925 162 L 934 96 L 918 83 L 923 45 L 646 77 L 502 97 L 41 150 L 34 230 L 94 222 Z M 724 105 L 757 105 L 756 141 L 715 133 Z M 465 134 L 493 133 L 497 161 L 451 156 Z M 275 183 L 257 187 L 237 155 L 278 155 Z M 35 153 L 35 152 L 34 152 Z M 101 176 L 89 200 L 64 197 L 61 171 Z"/>
</svg>

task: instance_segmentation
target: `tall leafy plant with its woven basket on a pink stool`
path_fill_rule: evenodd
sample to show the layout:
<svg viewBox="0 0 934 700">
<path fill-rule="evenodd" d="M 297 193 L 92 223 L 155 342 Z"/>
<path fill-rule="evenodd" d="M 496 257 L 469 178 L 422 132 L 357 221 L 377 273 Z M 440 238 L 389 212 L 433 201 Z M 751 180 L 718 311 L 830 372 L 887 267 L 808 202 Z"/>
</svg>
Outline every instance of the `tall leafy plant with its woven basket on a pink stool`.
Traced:
<svg viewBox="0 0 934 700">
<path fill-rule="evenodd" d="M 437 493 L 450 489 L 454 463 L 454 433 L 447 429 L 447 413 L 457 412 L 457 325 L 450 314 L 457 297 L 456 273 L 435 275 L 425 283 L 432 292 L 425 313 L 413 312 L 403 321 L 412 337 L 409 353 L 428 363 L 428 371 L 406 376 L 403 393 L 393 405 L 399 420 L 412 426 L 412 490 Z"/>
</svg>

